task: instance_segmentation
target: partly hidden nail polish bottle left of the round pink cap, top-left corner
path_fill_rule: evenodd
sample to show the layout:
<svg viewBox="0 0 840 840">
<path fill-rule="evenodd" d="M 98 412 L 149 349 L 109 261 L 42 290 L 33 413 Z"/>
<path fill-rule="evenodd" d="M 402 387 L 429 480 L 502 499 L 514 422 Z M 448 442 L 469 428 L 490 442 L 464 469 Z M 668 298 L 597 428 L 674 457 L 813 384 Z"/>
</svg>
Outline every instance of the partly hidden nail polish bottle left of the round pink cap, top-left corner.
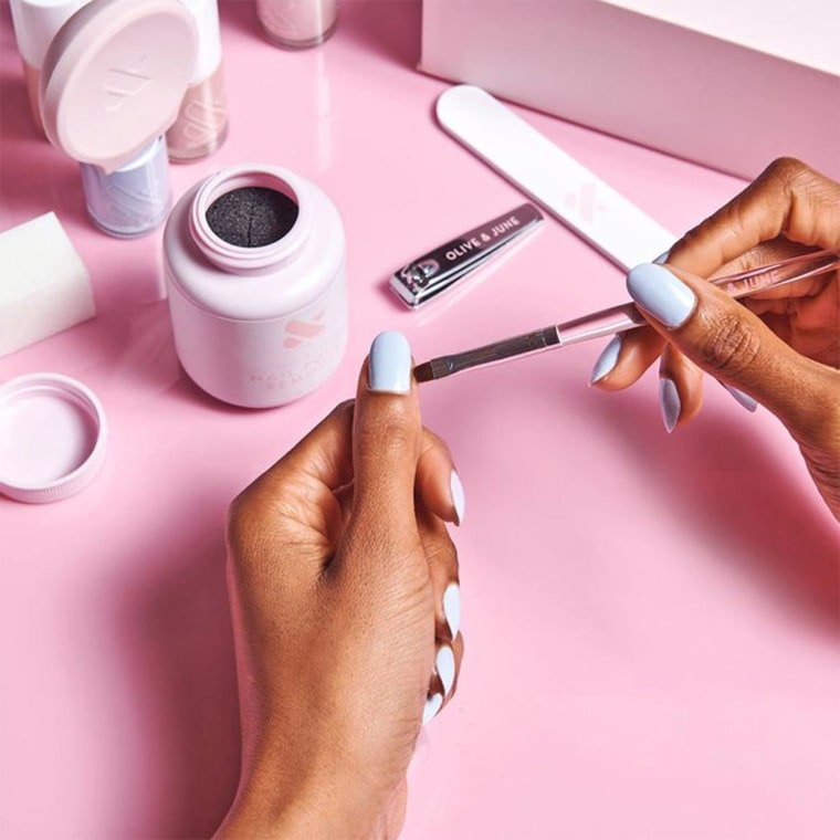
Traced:
<svg viewBox="0 0 840 840">
<path fill-rule="evenodd" d="M 12 24 L 23 63 L 23 80 L 27 85 L 32 120 L 43 134 L 41 111 L 38 104 L 38 87 L 44 55 L 55 33 L 67 19 L 87 0 L 11 0 Z"/>
</svg>

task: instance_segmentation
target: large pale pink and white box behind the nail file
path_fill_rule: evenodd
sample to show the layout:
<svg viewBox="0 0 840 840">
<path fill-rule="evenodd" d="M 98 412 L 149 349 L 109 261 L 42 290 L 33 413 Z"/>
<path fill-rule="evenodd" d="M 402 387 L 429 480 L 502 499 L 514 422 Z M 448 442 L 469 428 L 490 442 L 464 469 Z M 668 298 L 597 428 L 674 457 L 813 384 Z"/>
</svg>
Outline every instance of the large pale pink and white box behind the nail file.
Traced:
<svg viewBox="0 0 840 840">
<path fill-rule="evenodd" d="M 840 0 L 423 0 L 420 70 L 746 178 L 840 177 Z"/>
</svg>

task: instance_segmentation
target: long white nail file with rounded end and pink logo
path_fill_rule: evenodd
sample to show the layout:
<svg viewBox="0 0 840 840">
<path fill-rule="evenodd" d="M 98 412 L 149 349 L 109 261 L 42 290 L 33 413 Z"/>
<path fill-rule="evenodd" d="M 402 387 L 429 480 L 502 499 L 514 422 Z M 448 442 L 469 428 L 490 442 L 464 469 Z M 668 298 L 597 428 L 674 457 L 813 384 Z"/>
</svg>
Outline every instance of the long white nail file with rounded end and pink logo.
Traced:
<svg viewBox="0 0 840 840">
<path fill-rule="evenodd" d="M 676 241 L 481 87 L 450 87 L 437 113 L 447 132 L 626 271 Z"/>
</svg>

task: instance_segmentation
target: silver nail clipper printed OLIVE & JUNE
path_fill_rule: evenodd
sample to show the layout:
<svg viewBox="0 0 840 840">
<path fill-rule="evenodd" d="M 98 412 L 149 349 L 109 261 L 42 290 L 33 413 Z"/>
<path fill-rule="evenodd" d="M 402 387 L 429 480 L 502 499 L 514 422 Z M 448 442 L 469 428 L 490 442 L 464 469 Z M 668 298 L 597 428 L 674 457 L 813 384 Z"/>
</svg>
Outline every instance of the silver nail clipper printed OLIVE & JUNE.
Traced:
<svg viewBox="0 0 840 840">
<path fill-rule="evenodd" d="M 521 204 L 412 260 L 391 275 L 391 288 L 408 306 L 420 306 L 542 221 L 543 214 L 534 204 Z"/>
</svg>

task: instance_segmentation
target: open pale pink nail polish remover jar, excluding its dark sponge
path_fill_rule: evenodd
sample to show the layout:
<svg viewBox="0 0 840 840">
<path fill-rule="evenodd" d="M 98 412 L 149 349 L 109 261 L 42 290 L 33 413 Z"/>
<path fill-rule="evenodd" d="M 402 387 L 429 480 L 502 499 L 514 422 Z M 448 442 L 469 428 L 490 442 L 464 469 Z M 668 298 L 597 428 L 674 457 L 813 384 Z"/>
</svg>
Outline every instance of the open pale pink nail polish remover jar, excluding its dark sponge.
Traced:
<svg viewBox="0 0 840 840">
<path fill-rule="evenodd" d="M 297 218 L 270 244 L 231 244 L 210 228 L 208 209 L 253 187 L 286 196 Z M 344 227 L 314 183 L 271 166 L 211 176 L 172 209 L 164 255 L 178 357 L 208 393 L 246 408 L 281 406 L 313 391 L 340 363 Z"/>
</svg>

